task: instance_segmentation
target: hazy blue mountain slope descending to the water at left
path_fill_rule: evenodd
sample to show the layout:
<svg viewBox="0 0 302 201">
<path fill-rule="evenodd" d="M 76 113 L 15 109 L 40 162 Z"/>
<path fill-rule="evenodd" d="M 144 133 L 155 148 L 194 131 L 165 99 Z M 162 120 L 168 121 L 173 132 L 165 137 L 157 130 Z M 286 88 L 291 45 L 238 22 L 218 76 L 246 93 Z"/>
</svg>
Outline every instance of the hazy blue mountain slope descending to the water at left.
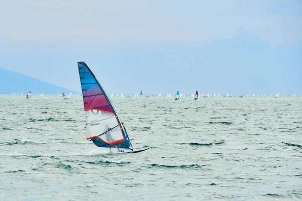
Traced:
<svg viewBox="0 0 302 201">
<path fill-rule="evenodd" d="M 59 94 L 68 93 L 71 90 L 56 86 L 36 78 L 0 68 L 0 93 L 23 93 L 32 91 L 33 94 Z M 79 93 L 72 91 L 73 93 Z"/>
</svg>

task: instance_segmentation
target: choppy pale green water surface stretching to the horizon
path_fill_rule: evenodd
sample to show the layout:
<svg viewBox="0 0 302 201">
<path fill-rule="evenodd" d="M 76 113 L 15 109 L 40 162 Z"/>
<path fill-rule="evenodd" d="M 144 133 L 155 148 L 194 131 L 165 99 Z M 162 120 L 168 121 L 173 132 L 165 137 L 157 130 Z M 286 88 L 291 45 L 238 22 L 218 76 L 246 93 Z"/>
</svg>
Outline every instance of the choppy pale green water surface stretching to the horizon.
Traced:
<svg viewBox="0 0 302 201">
<path fill-rule="evenodd" d="M 86 140 L 81 96 L 0 96 L 0 200 L 302 199 L 302 97 L 112 97 L 136 154 Z"/>
</svg>

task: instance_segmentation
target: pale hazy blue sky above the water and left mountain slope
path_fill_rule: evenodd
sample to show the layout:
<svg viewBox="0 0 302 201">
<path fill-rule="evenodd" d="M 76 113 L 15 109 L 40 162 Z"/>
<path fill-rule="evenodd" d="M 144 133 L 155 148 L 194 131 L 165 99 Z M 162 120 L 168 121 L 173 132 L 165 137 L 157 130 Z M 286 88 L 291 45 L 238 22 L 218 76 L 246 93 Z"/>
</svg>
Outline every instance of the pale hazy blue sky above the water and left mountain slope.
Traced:
<svg viewBox="0 0 302 201">
<path fill-rule="evenodd" d="M 81 91 L 302 93 L 302 1 L 1 1 L 0 67 Z"/>
</svg>

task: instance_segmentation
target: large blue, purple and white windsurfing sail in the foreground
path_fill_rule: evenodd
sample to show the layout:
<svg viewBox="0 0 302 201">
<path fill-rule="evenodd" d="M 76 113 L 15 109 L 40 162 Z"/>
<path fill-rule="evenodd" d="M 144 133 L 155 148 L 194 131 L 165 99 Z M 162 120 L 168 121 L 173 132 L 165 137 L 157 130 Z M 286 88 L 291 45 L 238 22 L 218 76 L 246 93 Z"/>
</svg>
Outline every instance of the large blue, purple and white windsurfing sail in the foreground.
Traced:
<svg viewBox="0 0 302 201">
<path fill-rule="evenodd" d="M 106 92 L 84 62 L 78 62 L 86 117 L 87 139 L 98 147 L 132 150 L 123 122 Z"/>
</svg>

